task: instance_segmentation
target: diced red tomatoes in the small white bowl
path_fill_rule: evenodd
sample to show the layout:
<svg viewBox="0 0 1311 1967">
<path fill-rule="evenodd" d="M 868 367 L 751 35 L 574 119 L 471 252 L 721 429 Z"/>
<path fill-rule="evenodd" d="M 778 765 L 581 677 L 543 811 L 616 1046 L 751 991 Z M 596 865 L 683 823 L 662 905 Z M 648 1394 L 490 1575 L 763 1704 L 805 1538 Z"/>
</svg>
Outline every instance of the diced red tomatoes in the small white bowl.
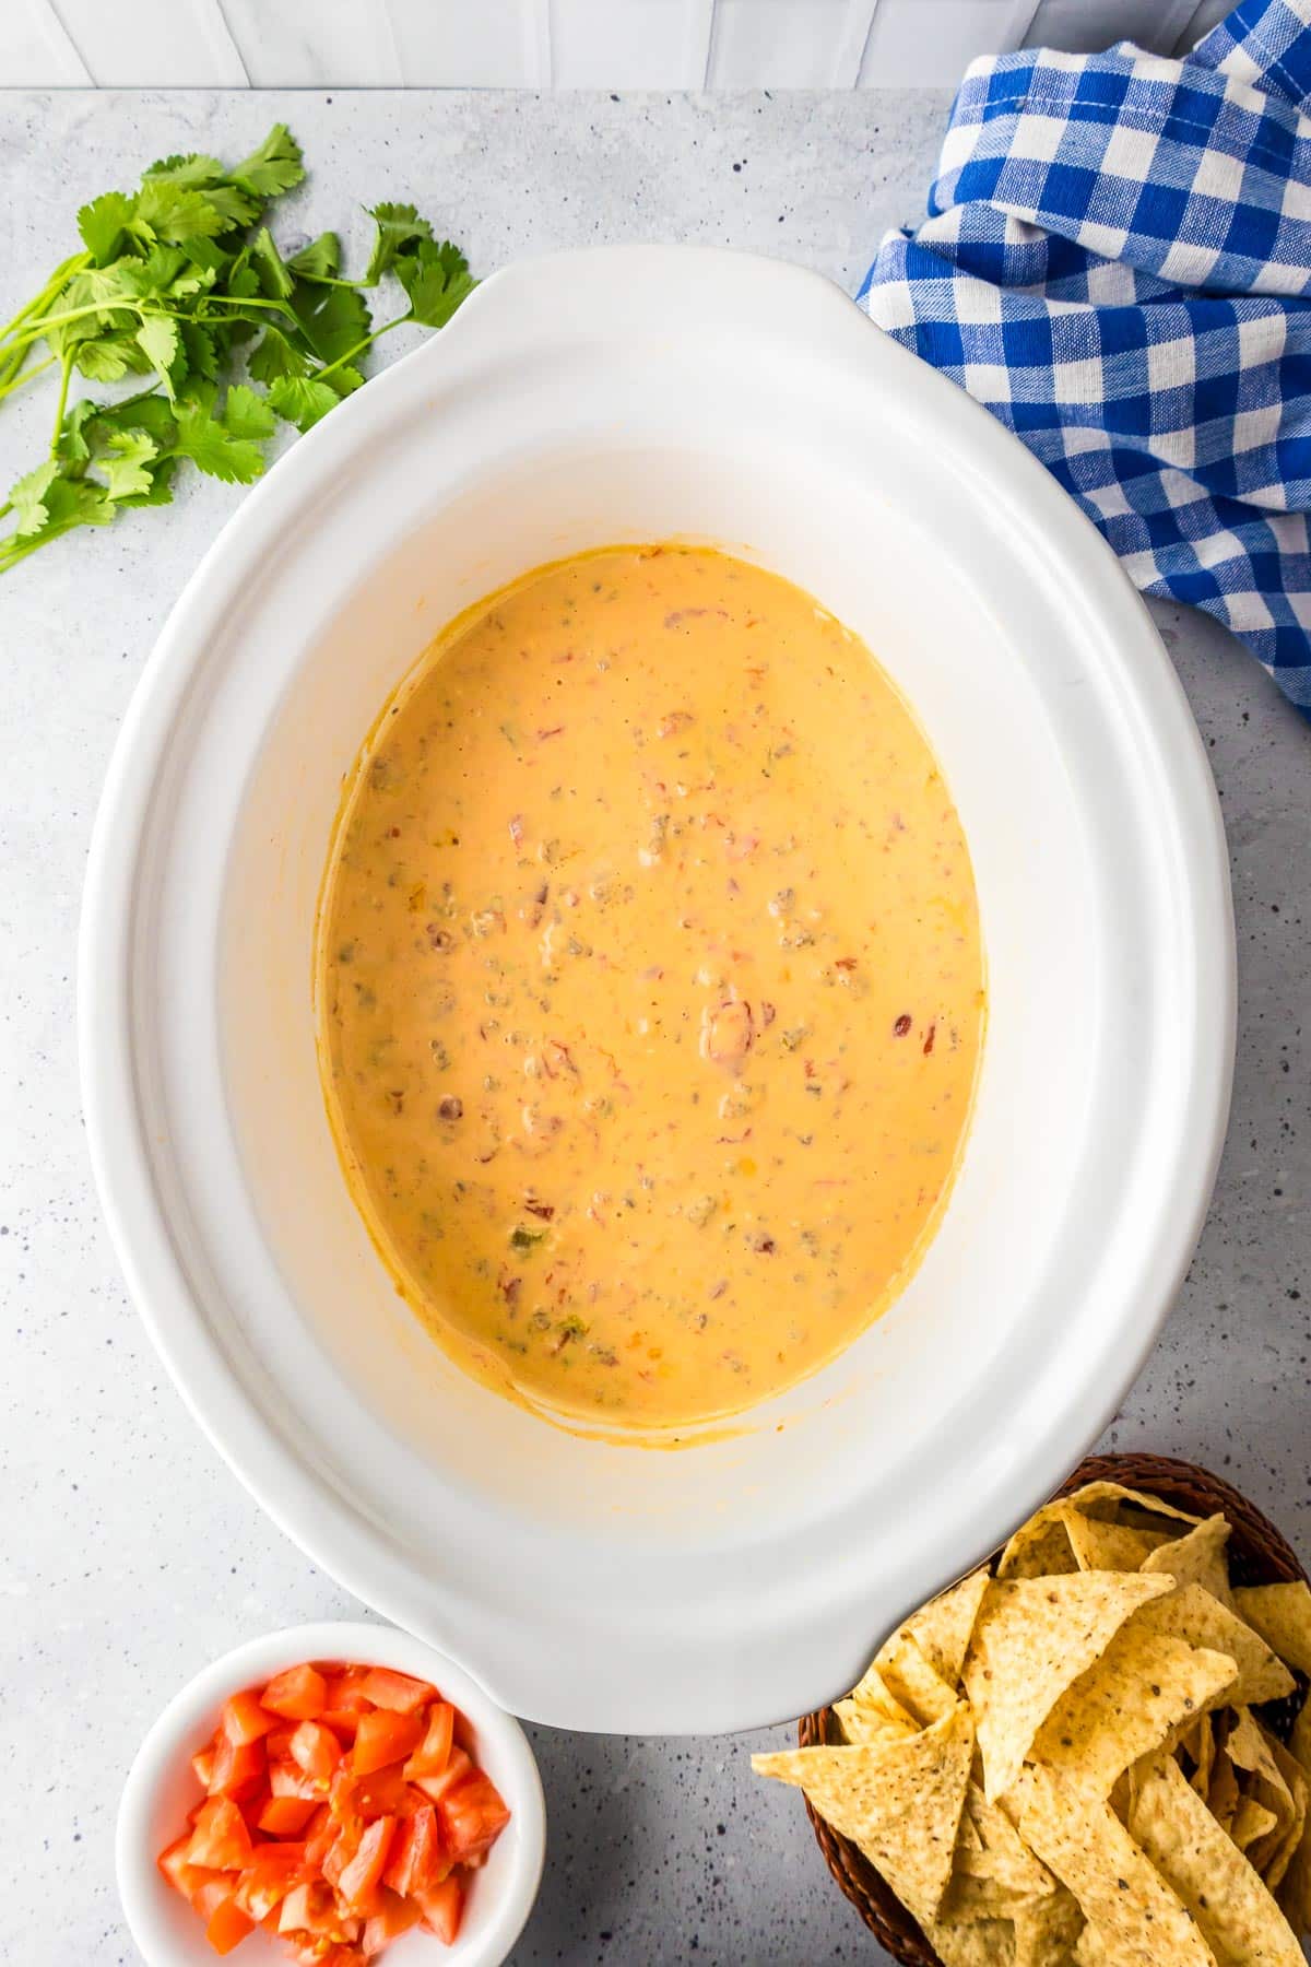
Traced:
<svg viewBox="0 0 1311 1967">
<path fill-rule="evenodd" d="M 419 1924 L 450 1945 L 509 1823 L 456 1707 L 385 1666 L 234 1694 L 191 1768 L 206 1794 L 159 1869 L 216 1953 L 257 1928 L 318 1967 L 368 1967 Z"/>
</svg>

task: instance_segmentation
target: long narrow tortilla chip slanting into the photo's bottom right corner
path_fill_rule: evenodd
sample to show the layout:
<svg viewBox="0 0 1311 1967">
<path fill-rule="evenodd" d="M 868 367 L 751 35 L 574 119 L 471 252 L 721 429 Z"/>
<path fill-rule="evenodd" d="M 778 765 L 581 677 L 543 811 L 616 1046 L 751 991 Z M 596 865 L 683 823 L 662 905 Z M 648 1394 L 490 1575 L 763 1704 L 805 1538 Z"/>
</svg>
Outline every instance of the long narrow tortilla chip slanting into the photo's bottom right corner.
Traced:
<svg viewBox="0 0 1311 1967">
<path fill-rule="evenodd" d="M 1305 1967 L 1272 1894 L 1169 1757 L 1140 1768 L 1128 1829 L 1221 1959 Z"/>
</svg>

